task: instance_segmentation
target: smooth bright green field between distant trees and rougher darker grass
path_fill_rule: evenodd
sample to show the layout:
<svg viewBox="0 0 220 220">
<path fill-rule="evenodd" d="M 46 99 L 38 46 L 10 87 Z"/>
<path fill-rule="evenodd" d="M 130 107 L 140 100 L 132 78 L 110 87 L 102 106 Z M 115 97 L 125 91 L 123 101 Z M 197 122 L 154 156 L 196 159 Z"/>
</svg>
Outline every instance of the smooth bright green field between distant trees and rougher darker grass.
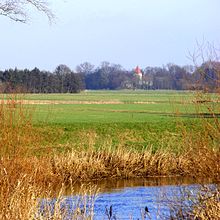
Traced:
<svg viewBox="0 0 220 220">
<path fill-rule="evenodd" d="M 195 94 L 176 91 L 87 91 L 80 94 L 29 94 L 35 105 L 35 122 L 52 124 L 156 122 L 195 117 L 207 105 L 195 105 Z M 211 95 L 215 100 L 215 96 Z M 219 104 L 209 103 L 217 111 Z M 178 115 L 182 113 L 183 115 Z M 168 117 L 168 118 L 167 118 Z"/>
</svg>

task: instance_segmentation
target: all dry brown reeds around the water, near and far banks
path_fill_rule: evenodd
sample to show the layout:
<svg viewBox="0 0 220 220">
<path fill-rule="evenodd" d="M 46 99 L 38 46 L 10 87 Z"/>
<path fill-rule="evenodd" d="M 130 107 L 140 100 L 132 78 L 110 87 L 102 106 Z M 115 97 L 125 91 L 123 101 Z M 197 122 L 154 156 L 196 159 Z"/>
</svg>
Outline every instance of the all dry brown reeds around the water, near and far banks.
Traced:
<svg viewBox="0 0 220 220">
<path fill-rule="evenodd" d="M 115 152 L 73 151 L 65 155 L 40 158 L 14 157 L 13 161 L 10 158 L 1 158 L 0 219 L 63 219 L 67 215 L 67 210 L 60 208 L 64 202 L 63 190 L 60 189 L 66 184 L 73 185 L 75 181 L 147 177 L 155 174 L 211 177 L 214 181 L 219 180 L 217 175 L 219 170 L 216 165 L 219 163 L 219 153 L 204 149 L 195 158 L 193 152 L 192 149 L 191 152 L 175 156 L 169 152 L 140 153 L 118 149 Z M 204 161 L 201 161 L 201 156 Z M 213 161 L 216 163 L 214 164 Z M 55 194 L 57 190 L 59 193 Z M 85 191 L 84 197 L 79 196 L 79 204 L 76 206 L 78 208 L 71 212 L 71 219 L 78 217 L 93 219 L 92 208 L 89 214 L 88 211 L 79 208 L 82 204 L 83 207 L 87 207 L 86 204 L 94 206 L 95 200 L 87 200 L 86 195 L 88 191 Z M 55 211 L 51 211 L 51 199 L 55 197 L 56 203 L 52 207 Z M 41 213 L 39 213 L 39 198 L 46 198 L 44 199 L 46 205 Z M 204 206 L 205 209 L 201 210 Z M 219 200 L 212 200 L 210 197 L 201 204 L 201 207 L 198 204 L 194 206 L 191 216 L 213 217 L 217 216 L 216 211 L 219 211 Z"/>
</svg>

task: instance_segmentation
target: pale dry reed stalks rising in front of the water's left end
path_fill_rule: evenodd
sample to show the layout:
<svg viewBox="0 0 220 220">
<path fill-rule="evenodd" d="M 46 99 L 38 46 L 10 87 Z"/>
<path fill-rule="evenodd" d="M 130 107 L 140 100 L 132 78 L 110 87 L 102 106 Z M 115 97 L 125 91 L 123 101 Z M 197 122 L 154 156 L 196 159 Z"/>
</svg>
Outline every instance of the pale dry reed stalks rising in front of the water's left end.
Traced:
<svg viewBox="0 0 220 220">
<path fill-rule="evenodd" d="M 56 198 L 44 198 L 39 202 L 36 219 L 87 219 L 94 217 L 94 205 L 97 198 L 96 188 L 83 186 L 74 194 L 71 188 L 72 198 L 66 198 L 65 187 L 61 187 Z"/>
</svg>

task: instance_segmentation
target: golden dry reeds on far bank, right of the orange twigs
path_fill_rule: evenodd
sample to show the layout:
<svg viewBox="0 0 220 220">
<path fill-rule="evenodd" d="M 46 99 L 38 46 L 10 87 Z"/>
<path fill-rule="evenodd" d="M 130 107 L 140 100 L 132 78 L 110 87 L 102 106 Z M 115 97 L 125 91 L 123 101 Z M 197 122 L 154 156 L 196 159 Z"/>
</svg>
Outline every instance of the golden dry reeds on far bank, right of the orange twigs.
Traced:
<svg viewBox="0 0 220 220">
<path fill-rule="evenodd" d="M 128 151 L 126 148 L 110 150 L 72 151 L 55 155 L 51 160 L 54 174 L 64 181 L 103 178 L 131 178 L 149 176 L 211 177 L 219 175 L 220 152 L 202 148 L 188 148 L 176 155 L 172 151 Z"/>
</svg>

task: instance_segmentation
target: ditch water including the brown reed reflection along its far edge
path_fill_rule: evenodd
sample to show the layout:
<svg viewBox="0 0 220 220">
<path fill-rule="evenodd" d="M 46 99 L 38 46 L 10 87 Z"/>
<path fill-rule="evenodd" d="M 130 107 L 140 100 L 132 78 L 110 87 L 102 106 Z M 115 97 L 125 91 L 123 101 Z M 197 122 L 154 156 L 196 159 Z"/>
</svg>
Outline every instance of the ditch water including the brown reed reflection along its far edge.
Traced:
<svg viewBox="0 0 220 220">
<path fill-rule="evenodd" d="M 190 207 L 189 194 L 191 197 L 195 196 L 201 187 L 200 184 L 208 183 L 207 180 L 195 183 L 194 179 L 189 178 L 147 178 L 95 182 L 93 184 L 99 189 L 99 193 L 95 200 L 93 219 L 168 219 L 173 205 Z M 80 187 L 78 185 L 76 191 Z M 68 211 L 71 212 L 76 200 L 76 196 L 69 195 L 67 191 L 63 206 L 68 207 Z M 146 207 L 149 212 L 145 212 Z M 112 217 L 109 218 L 108 215 Z"/>
</svg>

